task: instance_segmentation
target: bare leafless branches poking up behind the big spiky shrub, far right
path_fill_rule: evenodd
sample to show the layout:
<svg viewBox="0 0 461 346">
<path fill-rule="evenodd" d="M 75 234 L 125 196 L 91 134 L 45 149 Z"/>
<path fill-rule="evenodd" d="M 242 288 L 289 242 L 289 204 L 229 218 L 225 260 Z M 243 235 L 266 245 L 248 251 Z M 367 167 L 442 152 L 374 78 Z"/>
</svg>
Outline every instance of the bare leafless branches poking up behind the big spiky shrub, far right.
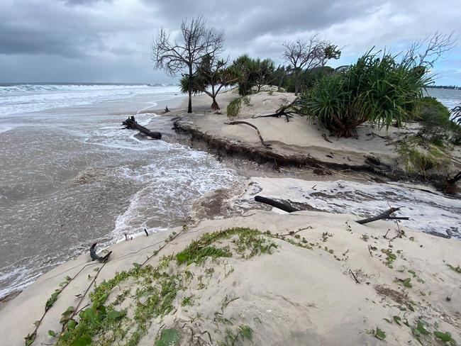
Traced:
<svg viewBox="0 0 461 346">
<path fill-rule="evenodd" d="M 450 52 L 456 45 L 457 37 L 455 37 L 454 32 L 445 34 L 436 31 L 426 36 L 426 38 L 411 43 L 404 54 L 403 60 L 411 62 L 415 66 L 431 69 L 437 60 Z"/>
</svg>

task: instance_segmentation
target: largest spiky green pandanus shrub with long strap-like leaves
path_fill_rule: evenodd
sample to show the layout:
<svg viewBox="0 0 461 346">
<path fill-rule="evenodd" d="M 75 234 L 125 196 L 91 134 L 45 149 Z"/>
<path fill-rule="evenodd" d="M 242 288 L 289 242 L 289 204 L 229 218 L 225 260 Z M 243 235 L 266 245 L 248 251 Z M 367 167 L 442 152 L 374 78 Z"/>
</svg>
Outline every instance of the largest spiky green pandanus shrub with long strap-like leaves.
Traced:
<svg viewBox="0 0 461 346">
<path fill-rule="evenodd" d="M 302 110 L 340 137 L 366 121 L 386 128 L 403 123 L 431 79 L 423 67 L 397 58 L 367 52 L 349 69 L 318 80 L 301 96 Z"/>
</svg>

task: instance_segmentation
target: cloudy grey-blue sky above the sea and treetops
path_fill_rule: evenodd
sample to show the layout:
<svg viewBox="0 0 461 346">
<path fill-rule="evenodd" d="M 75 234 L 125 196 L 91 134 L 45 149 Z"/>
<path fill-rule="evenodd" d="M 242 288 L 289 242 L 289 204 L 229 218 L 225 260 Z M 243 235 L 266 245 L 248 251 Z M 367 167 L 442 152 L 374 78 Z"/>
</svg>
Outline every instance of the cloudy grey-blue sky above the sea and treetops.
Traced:
<svg viewBox="0 0 461 346">
<path fill-rule="evenodd" d="M 224 33 L 225 56 L 283 64 L 282 43 L 318 33 L 338 44 L 337 67 L 372 47 L 394 52 L 435 31 L 461 35 L 461 0 L 0 0 L 0 83 L 171 83 L 153 68 L 152 38 L 203 15 Z M 461 40 L 435 66 L 461 85 Z"/>
</svg>

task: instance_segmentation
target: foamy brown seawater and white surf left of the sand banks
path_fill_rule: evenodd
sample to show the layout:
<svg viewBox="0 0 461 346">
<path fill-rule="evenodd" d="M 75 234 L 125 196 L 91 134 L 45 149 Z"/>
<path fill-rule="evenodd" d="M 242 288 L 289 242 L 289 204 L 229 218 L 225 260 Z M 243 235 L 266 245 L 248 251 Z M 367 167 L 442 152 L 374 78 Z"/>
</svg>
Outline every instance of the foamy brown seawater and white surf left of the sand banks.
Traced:
<svg viewBox="0 0 461 346">
<path fill-rule="evenodd" d="M 212 155 L 121 122 L 178 106 L 177 86 L 0 85 L 0 297 L 67 259 L 187 223 L 194 199 L 243 180 Z"/>
</svg>

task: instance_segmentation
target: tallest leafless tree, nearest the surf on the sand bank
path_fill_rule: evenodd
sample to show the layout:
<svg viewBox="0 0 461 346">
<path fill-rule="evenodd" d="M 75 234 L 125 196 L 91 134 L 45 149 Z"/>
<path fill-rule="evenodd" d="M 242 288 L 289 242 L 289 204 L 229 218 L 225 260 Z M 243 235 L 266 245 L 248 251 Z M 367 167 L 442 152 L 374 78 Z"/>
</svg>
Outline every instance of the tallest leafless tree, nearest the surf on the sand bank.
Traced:
<svg viewBox="0 0 461 346">
<path fill-rule="evenodd" d="M 170 33 L 161 28 L 152 43 L 152 61 L 156 69 L 165 69 L 171 76 L 183 72 L 192 80 L 196 65 L 202 57 L 214 57 L 223 51 L 224 35 L 213 28 L 206 28 L 203 16 L 196 16 L 181 23 L 180 42 L 170 40 Z M 185 73 L 184 73 L 185 72 Z M 192 113 L 192 84 L 188 88 L 189 104 L 187 113 Z"/>
</svg>

